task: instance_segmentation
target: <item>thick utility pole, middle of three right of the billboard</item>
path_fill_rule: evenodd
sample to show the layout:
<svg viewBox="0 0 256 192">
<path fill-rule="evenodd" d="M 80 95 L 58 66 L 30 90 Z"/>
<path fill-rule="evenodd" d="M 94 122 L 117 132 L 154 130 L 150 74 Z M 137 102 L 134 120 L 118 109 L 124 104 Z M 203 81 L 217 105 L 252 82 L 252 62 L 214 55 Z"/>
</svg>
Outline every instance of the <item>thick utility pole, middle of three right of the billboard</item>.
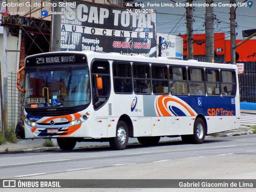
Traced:
<svg viewBox="0 0 256 192">
<path fill-rule="evenodd" d="M 213 17 L 213 0 L 206 0 L 205 8 L 205 61 L 214 63 L 214 17 Z"/>
</svg>

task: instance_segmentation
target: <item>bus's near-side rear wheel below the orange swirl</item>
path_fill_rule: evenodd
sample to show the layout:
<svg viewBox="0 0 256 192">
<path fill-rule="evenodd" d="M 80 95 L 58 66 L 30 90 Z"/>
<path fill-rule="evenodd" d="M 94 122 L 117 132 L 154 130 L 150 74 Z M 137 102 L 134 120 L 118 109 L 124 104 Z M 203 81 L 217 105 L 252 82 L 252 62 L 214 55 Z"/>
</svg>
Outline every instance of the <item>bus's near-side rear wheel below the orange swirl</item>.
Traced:
<svg viewBox="0 0 256 192">
<path fill-rule="evenodd" d="M 195 120 L 193 131 L 193 135 L 182 135 L 182 141 L 185 143 L 202 144 L 206 134 L 206 127 L 202 118 L 197 118 Z"/>
</svg>

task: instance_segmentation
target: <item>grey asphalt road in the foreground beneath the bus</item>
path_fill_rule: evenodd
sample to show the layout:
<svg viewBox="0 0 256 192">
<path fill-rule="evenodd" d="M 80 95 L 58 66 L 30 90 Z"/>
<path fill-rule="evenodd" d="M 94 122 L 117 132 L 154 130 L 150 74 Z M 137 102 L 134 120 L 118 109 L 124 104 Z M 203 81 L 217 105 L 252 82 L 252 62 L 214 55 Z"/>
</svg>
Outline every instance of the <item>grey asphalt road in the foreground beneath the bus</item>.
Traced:
<svg viewBox="0 0 256 192">
<path fill-rule="evenodd" d="M 245 177 L 246 173 L 252 175 L 245 178 L 255 178 L 255 140 L 255 134 L 249 134 L 206 138 L 200 145 L 173 140 L 156 146 L 134 144 L 122 151 L 100 147 L 70 152 L 0 155 L 0 179 L 66 178 L 66 174 L 72 173 L 72 178 L 80 179 L 117 179 L 120 176 L 125 179 L 214 179 L 237 178 L 243 174 Z M 162 162 L 167 165 L 160 168 Z M 233 162 L 235 167 L 225 167 L 228 162 Z M 122 170 L 120 174 L 114 174 L 117 167 Z M 136 174 L 132 170 L 137 170 Z M 77 173 L 83 174 L 78 176 Z"/>
</svg>

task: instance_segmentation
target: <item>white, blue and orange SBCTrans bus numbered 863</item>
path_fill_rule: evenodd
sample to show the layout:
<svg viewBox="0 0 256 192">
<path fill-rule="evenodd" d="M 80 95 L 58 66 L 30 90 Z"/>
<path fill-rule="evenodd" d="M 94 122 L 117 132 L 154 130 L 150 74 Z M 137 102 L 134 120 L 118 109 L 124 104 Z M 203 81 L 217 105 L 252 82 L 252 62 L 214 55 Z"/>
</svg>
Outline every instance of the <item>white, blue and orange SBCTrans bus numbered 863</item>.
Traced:
<svg viewBox="0 0 256 192">
<path fill-rule="evenodd" d="M 235 65 L 70 51 L 28 56 L 23 69 L 25 138 L 57 138 L 63 150 L 82 141 L 123 150 L 129 137 L 201 144 L 240 126 Z"/>
</svg>

